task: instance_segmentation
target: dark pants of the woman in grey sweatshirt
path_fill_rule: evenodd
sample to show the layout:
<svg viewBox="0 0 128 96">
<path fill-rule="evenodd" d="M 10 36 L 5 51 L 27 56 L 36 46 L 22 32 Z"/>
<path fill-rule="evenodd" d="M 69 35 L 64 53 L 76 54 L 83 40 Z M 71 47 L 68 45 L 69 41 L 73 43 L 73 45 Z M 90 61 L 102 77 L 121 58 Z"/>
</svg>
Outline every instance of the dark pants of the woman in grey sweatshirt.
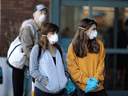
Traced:
<svg viewBox="0 0 128 96">
<path fill-rule="evenodd" d="M 38 89 L 37 87 L 34 88 L 34 96 L 62 96 L 64 91 L 58 94 L 50 94 L 43 92 L 42 90 Z"/>
</svg>

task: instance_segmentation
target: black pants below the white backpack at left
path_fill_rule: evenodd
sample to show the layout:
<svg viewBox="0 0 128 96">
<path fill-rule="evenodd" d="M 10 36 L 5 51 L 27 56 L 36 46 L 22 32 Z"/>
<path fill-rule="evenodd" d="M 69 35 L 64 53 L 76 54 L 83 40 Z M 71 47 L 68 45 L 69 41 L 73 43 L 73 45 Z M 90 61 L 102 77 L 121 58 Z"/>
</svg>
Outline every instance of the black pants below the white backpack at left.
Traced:
<svg viewBox="0 0 128 96">
<path fill-rule="evenodd" d="M 13 93 L 14 96 L 23 95 L 23 81 L 24 81 L 24 71 L 20 69 L 12 69 L 12 82 L 13 82 Z"/>
</svg>

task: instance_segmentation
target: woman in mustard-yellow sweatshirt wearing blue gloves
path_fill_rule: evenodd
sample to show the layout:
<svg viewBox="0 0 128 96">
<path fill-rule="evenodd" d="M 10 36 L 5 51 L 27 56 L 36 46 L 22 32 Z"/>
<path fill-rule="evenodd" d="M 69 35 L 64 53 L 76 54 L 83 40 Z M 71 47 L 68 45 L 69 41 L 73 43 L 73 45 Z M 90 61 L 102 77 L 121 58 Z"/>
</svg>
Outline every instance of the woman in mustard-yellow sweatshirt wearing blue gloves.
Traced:
<svg viewBox="0 0 128 96">
<path fill-rule="evenodd" d="M 96 39 L 97 23 L 82 19 L 68 49 L 69 72 L 86 96 L 107 96 L 103 87 L 105 49 Z"/>
</svg>

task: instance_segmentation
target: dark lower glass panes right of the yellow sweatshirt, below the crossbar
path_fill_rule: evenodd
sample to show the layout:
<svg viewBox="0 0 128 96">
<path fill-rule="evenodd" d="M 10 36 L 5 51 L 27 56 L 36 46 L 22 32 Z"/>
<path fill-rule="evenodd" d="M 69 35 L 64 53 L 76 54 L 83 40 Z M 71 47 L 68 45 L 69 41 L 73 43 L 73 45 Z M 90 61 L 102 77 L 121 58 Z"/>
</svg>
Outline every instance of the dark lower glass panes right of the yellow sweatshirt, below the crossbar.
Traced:
<svg viewBox="0 0 128 96">
<path fill-rule="evenodd" d="M 116 90 L 128 90 L 128 68 L 127 63 L 122 61 L 126 54 L 106 54 L 105 57 L 105 81 L 104 87 L 106 90 L 114 90 L 114 83 L 116 82 Z M 116 58 L 115 58 L 116 57 Z M 114 66 L 116 65 L 116 73 L 114 73 Z M 114 77 L 116 76 L 116 77 Z M 115 81 L 116 78 L 116 81 Z"/>
</svg>

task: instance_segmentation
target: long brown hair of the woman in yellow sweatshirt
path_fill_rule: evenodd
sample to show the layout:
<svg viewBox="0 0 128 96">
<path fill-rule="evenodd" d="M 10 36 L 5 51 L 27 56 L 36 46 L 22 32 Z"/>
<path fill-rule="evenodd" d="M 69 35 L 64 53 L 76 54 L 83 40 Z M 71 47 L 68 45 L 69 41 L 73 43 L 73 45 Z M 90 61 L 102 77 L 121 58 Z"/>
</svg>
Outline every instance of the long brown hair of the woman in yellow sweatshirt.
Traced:
<svg viewBox="0 0 128 96">
<path fill-rule="evenodd" d="M 97 23 L 94 20 L 90 19 L 82 19 L 79 22 L 79 28 L 73 41 L 73 51 L 75 52 L 76 56 L 83 58 L 87 56 L 87 49 L 90 53 L 98 53 L 100 51 L 100 45 L 96 41 L 96 39 L 90 40 L 85 31 L 87 31 L 93 24 L 97 26 Z M 86 46 L 87 45 L 87 46 Z"/>
</svg>

